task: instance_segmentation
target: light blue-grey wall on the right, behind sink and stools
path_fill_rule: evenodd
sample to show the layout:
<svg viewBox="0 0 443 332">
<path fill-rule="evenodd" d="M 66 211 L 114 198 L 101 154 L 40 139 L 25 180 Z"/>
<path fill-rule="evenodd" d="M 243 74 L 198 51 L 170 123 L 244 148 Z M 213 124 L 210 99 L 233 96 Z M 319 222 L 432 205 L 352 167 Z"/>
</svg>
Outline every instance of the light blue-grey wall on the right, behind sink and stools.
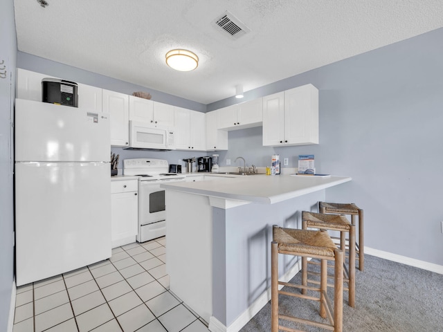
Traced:
<svg viewBox="0 0 443 332">
<path fill-rule="evenodd" d="M 234 131 L 221 166 L 236 156 L 269 165 L 277 153 L 297 167 L 299 154 L 314 154 L 318 172 L 352 177 L 327 199 L 363 208 L 366 246 L 443 266 L 442 41 L 440 28 L 251 91 L 257 98 L 314 84 L 320 144 L 262 147 L 261 127 Z"/>
</svg>

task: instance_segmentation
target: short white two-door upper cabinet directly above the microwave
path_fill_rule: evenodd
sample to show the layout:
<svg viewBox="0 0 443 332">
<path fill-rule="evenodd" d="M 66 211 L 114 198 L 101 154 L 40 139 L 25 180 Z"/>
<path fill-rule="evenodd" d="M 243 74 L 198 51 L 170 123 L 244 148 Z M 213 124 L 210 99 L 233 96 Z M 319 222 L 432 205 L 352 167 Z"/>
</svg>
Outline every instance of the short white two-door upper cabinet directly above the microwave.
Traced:
<svg viewBox="0 0 443 332">
<path fill-rule="evenodd" d="M 155 128 L 173 128 L 174 107 L 129 95 L 129 120 L 145 122 Z"/>
</svg>

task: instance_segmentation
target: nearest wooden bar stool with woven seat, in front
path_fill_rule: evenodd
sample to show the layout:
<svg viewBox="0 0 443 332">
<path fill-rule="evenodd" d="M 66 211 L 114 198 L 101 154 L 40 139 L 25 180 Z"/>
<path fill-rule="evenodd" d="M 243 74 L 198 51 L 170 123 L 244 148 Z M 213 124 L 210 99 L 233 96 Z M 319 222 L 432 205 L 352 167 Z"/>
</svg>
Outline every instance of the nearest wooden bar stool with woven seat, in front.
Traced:
<svg viewBox="0 0 443 332">
<path fill-rule="evenodd" d="M 278 280 L 278 254 L 320 259 L 321 281 L 319 287 L 302 286 Z M 327 261 L 334 264 L 334 306 L 327 295 Z M 280 325 L 279 320 L 297 322 L 311 326 L 328 329 L 330 331 L 343 331 L 343 251 L 339 250 L 327 232 L 316 230 L 296 230 L 273 226 L 273 241 L 271 242 L 271 332 L 300 331 L 291 327 Z M 278 291 L 278 285 L 302 290 L 319 292 L 319 297 Z M 320 302 L 320 316 L 328 318 L 329 324 L 306 320 L 300 317 L 282 315 L 278 311 L 278 295 L 289 295 L 302 299 L 311 299 Z"/>
</svg>

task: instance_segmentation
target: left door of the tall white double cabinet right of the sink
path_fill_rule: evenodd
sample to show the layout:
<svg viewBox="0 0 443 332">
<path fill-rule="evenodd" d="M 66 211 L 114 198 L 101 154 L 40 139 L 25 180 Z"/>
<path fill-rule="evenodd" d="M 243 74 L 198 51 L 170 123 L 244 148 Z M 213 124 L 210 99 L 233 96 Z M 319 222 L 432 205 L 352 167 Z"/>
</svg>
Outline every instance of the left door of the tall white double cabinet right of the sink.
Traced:
<svg viewBox="0 0 443 332">
<path fill-rule="evenodd" d="M 284 143 L 284 92 L 263 97 L 263 145 Z"/>
</svg>

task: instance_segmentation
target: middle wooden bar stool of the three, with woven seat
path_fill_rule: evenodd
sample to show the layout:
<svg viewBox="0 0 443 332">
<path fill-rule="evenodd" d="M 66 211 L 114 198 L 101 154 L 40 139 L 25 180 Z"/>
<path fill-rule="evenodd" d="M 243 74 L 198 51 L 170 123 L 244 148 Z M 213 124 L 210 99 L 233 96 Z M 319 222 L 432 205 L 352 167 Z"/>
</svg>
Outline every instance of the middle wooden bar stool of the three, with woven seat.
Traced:
<svg viewBox="0 0 443 332">
<path fill-rule="evenodd" d="M 302 229 L 317 228 L 319 230 L 334 230 L 340 232 L 340 249 L 345 252 L 346 233 L 349 233 L 350 243 L 355 243 L 355 226 L 343 215 L 324 214 L 302 211 Z M 345 282 L 347 283 L 348 304 L 355 306 L 355 246 L 350 246 L 348 268 L 345 266 Z M 314 273 L 312 273 L 314 274 Z M 302 285 L 318 283 L 307 279 L 307 259 L 302 258 Z M 332 286 L 332 285 L 329 285 Z"/>
</svg>

